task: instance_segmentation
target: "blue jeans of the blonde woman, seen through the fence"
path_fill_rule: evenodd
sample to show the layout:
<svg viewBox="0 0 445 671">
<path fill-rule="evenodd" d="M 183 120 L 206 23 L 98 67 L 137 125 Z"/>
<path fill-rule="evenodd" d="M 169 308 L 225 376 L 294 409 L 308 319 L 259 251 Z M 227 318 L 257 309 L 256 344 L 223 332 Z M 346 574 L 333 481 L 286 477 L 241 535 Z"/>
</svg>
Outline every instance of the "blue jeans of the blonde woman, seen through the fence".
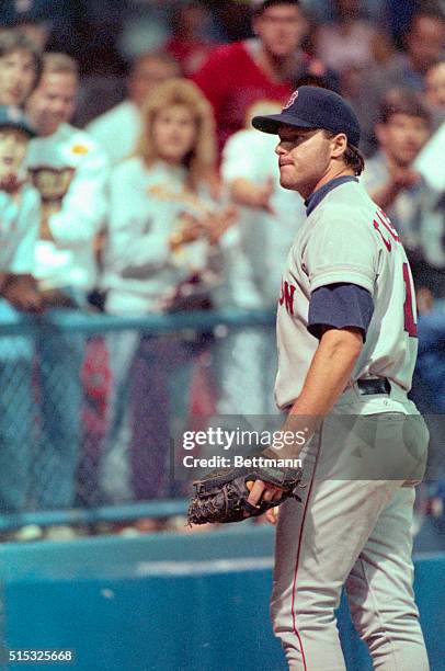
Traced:
<svg viewBox="0 0 445 671">
<path fill-rule="evenodd" d="M 173 496 L 171 423 L 187 412 L 199 345 L 137 331 L 107 338 L 113 388 L 100 486 L 109 502 Z"/>
</svg>

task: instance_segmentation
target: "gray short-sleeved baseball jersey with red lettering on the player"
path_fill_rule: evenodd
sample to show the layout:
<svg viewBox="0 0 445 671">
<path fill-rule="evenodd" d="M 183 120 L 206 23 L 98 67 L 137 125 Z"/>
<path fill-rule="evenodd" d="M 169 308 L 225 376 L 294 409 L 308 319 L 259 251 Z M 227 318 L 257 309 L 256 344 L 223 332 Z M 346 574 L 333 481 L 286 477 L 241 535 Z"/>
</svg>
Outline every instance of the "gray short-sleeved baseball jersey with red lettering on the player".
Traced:
<svg viewBox="0 0 445 671">
<path fill-rule="evenodd" d="M 275 400 L 284 409 L 301 391 L 318 346 L 308 331 L 311 293 L 334 283 L 367 289 L 374 314 L 351 384 L 387 377 L 409 391 L 417 356 L 414 289 L 400 238 L 357 180 L 323 195 L 297 234 L 283 276 L 277 314 L 278 374 Z M 369 397 L 363 413 L 400 410 L 397 401 Z"/>
</svg>

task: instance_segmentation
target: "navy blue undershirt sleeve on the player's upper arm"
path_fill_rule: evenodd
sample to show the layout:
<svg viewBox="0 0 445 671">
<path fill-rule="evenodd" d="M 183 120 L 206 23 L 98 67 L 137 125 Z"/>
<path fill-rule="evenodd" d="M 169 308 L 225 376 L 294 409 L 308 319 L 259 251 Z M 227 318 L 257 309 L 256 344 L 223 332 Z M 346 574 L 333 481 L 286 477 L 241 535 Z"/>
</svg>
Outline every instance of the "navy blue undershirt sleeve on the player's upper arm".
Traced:
<svg viewBox="0 0 445 671">
<path fill-rule="evenodd" d="M 350 327 L 361 329 L 366 340 L 373 312 L 373 296 L 362 286 L 346 283 L 320 286 L 310 296 L 308 331 L 320 339 L 323 327 Z"/>
</svg>

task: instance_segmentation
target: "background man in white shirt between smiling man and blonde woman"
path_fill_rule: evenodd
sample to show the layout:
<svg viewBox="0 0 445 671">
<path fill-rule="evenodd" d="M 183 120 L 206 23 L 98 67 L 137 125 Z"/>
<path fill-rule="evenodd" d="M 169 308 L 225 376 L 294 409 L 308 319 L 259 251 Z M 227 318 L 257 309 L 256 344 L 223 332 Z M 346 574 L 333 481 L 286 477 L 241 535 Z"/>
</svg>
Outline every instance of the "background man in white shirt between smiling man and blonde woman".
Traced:
<svg viewBox="0 0 445 671">
<path fill-rule="evenodd" d="M 132 65 L 127 98 L 88 126 L 88 133 L 106 151 L 111 164 L 128 158 L 141 132 L 140 110 L 150 91 L 172 77 L 179 77 L 178 62 L 167 54 L 141 54 Z"/>
</svg>

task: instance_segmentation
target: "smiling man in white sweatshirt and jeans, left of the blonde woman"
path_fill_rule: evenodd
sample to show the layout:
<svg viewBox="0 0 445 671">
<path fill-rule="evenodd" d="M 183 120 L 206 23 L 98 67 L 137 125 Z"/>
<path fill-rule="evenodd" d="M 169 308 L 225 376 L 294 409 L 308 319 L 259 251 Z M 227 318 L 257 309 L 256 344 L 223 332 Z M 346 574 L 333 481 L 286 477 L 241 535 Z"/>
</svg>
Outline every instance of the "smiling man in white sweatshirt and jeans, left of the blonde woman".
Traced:
<svg viewBox="0 0 445 671">
<path fill-rule="evenodd" d="M 106 157 L 87 133 L 68 123 L 77 89 L 76 61 L 46 54 L 41 81 L 26 104 L 38 134 L 30 145 L 27 167 L 42 197 L 35 276 L 46 307 L 87 305 L 96 278 L 93 241 L 106 211 Z M 79 456 L 83 338 L 49 332 L 36 346 L 44 416 L 37 500 L 65 507 L 73 502 Z"/>
</svg>

